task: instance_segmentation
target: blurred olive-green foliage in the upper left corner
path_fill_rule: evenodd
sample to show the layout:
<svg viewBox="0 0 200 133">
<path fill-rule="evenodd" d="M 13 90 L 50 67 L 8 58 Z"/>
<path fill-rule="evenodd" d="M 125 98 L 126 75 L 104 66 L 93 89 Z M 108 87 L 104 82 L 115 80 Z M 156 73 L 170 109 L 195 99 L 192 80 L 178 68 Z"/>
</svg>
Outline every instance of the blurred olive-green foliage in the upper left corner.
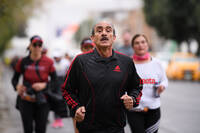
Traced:
<svg viewBox="0 0 200 133">
<path fill-rule="evenodd" d="M 0 55 L 14 36 L 25 36 L 33 0 L 0 0 Z"/>
</svg>

